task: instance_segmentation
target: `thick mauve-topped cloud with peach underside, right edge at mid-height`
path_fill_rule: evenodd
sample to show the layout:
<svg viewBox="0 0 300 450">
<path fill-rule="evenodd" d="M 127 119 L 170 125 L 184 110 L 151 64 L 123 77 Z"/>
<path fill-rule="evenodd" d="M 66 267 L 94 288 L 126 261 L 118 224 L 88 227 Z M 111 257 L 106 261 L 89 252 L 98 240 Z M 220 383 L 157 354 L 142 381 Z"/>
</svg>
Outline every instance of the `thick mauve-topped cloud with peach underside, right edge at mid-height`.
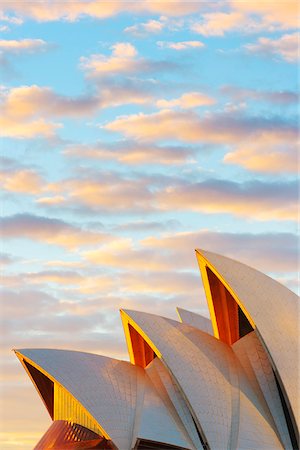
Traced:
<svg viewBox="0 0 300 450">
<path fill-rule="evenodd" d="M 237 183 L 216 179 L 174 183 L 157 193 L 156 204 L 165 211 L 233 214 L 256 220 L 297 220 L 297 183 L 257 180 Z"/>
</svg>

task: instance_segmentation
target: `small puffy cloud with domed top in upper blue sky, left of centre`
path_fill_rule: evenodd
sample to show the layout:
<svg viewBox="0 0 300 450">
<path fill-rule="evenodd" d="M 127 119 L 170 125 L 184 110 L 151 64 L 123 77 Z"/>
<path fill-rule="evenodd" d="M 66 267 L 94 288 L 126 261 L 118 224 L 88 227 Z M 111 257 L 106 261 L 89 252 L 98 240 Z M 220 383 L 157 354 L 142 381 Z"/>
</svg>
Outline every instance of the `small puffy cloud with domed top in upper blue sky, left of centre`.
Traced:
<svg viewBox="0 0 300 450">
<path fill-rule="evenodd" d="M 89 78 L 148 73 L 175 67 L 174 63 L 150 61 L 138 56 L 136 48 L 128 42 L 118 42 L 111 47 L 111 56 L 94 54 L 80 58 L 80 67 Z"/>
</svg>

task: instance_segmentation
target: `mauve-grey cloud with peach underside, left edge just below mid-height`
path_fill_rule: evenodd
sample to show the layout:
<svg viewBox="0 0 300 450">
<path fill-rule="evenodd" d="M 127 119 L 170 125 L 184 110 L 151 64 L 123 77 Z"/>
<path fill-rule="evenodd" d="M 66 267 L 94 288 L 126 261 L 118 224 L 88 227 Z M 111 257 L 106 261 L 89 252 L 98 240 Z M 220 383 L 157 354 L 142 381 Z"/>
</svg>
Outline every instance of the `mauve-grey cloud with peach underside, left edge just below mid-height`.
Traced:
<svg viewBox="0 0 300 450">
<path fill-rule="evenodd" d="M 70 250 L 109 239 L 105 233 L 87 231 L 63 220 L 30 214 L 2 217 L 0 227 L 5 239 L 30 239 Z"/>
</svg>

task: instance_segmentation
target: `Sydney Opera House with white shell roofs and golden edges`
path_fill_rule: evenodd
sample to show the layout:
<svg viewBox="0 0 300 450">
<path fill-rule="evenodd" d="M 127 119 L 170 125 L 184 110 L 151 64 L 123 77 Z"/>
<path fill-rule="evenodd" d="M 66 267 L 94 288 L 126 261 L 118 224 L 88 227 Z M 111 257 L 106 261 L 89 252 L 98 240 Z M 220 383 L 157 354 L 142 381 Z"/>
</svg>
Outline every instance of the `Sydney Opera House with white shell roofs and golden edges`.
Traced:
<svg viewBox="0 0 300 450">
<path fill-rule="evenodd" d="M 210 320 L 122 310 L 130 362 L 15 350 L 53 421 L 36 450 L 299 448 L 298 297 L 196 255 Z"/>
</svg>

